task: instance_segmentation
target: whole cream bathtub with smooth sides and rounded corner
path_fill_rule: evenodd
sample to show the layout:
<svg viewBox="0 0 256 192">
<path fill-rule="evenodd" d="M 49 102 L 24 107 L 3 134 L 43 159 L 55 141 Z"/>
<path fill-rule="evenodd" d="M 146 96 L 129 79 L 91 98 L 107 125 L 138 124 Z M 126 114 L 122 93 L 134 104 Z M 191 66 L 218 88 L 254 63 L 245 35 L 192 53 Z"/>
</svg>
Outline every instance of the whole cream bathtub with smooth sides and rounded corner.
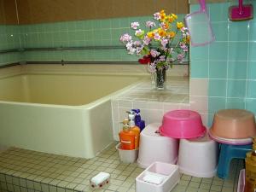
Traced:
<svg viewBox="0 0 256 192">
<path fill-rule="evenodd" d="M 0 146 L 92 158 L 113 142 L 111 98 L 142 77 L 52 66 L 0 70 Z"/>
</svg>

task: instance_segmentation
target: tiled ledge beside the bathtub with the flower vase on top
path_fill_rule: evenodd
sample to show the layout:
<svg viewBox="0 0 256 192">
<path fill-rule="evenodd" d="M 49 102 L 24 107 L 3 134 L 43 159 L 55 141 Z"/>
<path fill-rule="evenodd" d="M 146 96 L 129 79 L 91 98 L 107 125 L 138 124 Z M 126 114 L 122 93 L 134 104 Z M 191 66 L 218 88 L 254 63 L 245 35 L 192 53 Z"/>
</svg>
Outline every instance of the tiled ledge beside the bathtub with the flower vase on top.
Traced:
<svg viewBox="0 0 256 192">
<path fill-rule="evenodd" d="M 189 77 L 168 77 L 166 90 L 155 90 L 150 79 L 124 91 L 112 99 L 113 137 L 119 139 L 126 111 L 131 108 L 141 109 L 146 125 L 161 122 L 164 113 L 175 109 L 189 109 Z"/>
</svg>

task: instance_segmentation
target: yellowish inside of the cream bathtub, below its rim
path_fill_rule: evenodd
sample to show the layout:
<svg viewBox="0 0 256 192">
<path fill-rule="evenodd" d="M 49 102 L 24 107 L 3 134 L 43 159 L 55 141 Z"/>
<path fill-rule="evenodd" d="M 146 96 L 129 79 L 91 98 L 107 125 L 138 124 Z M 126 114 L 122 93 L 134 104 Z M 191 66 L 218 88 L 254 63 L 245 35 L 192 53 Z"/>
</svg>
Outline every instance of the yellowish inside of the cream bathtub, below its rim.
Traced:
<svg viewBox="0 0 256 192">
<path fill-rule="evenodd" d="M 137 82 L 132 75 L 19 74 L 0 79 L 0 101 L 79 106 Z"/>
</svg>

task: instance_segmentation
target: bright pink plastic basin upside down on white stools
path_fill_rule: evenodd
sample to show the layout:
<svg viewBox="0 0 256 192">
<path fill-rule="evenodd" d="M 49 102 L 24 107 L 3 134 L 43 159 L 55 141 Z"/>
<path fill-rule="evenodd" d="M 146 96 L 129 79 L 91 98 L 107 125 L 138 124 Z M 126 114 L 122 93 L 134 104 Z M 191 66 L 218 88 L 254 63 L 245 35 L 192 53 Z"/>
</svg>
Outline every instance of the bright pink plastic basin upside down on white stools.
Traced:
<svg viewBox="0 0 256 192">
<path fill-rule="evenodd" d="M 160 126 L 160 134 L 172 138 L 202 137 L 206 127 L 202 125 L 201 115 L 191 110 L 174 110 L 166 113 Z"/>
</svg>

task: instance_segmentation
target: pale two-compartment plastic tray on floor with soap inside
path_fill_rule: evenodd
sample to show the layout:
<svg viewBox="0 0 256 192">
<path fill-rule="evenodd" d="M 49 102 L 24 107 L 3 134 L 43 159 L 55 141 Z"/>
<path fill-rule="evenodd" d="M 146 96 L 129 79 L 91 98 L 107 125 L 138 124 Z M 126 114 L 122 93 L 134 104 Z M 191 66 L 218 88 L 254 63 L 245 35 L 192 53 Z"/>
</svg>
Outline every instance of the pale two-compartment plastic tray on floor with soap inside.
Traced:
<svg viewBox="0 0 256 192">
<path fill-rule="evenodd" d="M 147 175 L 164 177 L 160 184 L 144 181 Z M 169 192 L 179 182 L 178 166 L 163 162 L 154 162 L 136 178 L 137 192 Z"/>
</svg>

